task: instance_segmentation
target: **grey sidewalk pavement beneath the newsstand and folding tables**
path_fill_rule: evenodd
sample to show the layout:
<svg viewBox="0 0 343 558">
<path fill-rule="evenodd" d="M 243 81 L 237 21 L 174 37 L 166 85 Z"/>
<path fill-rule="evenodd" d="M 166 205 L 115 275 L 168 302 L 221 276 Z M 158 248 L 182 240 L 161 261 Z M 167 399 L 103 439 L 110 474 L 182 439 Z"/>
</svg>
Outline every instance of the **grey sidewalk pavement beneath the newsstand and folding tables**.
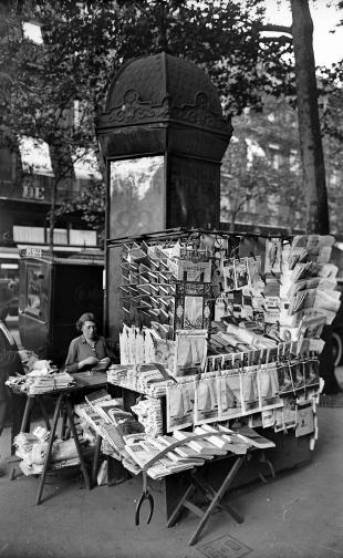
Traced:
<svg viewBox="0 0 343 558">
<path fill-rule="evenodd" d="M 166 527 L 162 483 L 154 485 L 149 525 L 134 525 L 141 477 L 92 490 L 80 489 L 74 471 L 50 476 L 46 498 L 34 505 L 37 477 L 0 478 L 1 558 L 337 558 L 343 557 L 343 409 L 319 409 L 320 437 L 311 464 L 232 493 L 245 517 L 224 513 L 208 521 L 196 546 L 187 541 L 198 518 L 188 514 Z M 9 428 L 0 438 L 9 454 Z"/>
</svg>

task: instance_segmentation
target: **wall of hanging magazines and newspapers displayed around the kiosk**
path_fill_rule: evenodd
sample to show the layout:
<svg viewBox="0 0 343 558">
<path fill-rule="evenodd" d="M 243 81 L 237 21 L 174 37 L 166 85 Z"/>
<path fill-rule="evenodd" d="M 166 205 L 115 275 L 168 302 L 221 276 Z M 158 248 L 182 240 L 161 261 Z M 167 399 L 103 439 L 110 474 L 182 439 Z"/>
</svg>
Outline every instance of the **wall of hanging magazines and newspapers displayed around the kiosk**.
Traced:
<svg viewBox="0 0 343 558">
<path fill-rule="evenodd" d="M 167 432 L 242 416 L 289 431 L 311 407 L 315 438 L 320 335 L 340 306 L 332 244 L 202 229 L 110 240 L 122 247 L 126 388 L 160 388 Z"/>
</svg>

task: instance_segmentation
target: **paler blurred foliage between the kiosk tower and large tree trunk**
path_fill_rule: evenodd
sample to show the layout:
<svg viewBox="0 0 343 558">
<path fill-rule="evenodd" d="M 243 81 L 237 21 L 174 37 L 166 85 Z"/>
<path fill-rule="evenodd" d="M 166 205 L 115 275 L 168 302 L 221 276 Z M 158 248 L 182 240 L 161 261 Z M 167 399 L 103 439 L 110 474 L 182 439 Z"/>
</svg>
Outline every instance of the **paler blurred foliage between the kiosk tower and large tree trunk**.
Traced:
<svg viewBox="0 0 343 558">
<path fill-rule="evenodd" d="M 263 113 L 247 111 L 233 120 L 221 167 L 221 220 L 232 229 L 241 219 L 301 229 L 304 196 L 295 113 L 284 99 L 266 96 L 263 103 Z"/>
</svg>

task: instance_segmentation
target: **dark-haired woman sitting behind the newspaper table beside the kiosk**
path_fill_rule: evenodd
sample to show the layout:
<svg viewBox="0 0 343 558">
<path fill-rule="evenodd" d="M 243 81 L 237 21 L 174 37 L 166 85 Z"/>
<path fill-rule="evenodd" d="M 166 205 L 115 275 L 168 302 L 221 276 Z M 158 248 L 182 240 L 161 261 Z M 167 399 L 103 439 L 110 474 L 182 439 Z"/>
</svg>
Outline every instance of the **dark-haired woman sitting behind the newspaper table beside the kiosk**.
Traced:
<svg viewBox="0 0 343 558">
<path fill-rule="evenodd" d="M 96 333 L 93 313 L 86 312 L 76 322 L 81 335 L 73 339 L 65 361 L 66 372 L 106 370 L 111 364 L 105 339 Z"/>
</svg>

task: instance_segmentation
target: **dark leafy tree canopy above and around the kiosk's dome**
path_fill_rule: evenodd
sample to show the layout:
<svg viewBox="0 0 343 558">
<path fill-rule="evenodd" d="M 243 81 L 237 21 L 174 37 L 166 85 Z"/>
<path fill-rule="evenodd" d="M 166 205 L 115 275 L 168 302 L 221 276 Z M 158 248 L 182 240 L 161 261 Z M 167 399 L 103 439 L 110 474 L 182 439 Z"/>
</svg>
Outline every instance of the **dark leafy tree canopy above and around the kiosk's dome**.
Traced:
<svg viewBox="0 0 343 558">
<path fill-rule="evenodd" d="M 263 0 L 37 0 L 22 2 L 20 13 L 17 4 L 0 33 L 1 143 L 15 147 L 20 135 L 48 142 L 58 186 L 73 176 L 77 158 L 96 149 L 95 111 L 132 58 L 167 48 L 194 61 L 209 73 L 230 116 L 247 106 L 262 111 L 266 93 L 295 103 L 292 43 L 284 35 L 261 40 Z M 40 23 L 43 44 L 23 37 L 22 21 Z M 332 71 L 342 78 L 339 66 Z M 322 83 L 331 93 L 330 73 L 323 72 Z M 77 125 L 75 100 L 82 106 Z M 329 130 L 329 114 L 326 120 Z M 84 199 L 86 194 L 64 209 L 84 211 Z M 103 196 L 100 202 L 103 207 Z"/>
</svg>

